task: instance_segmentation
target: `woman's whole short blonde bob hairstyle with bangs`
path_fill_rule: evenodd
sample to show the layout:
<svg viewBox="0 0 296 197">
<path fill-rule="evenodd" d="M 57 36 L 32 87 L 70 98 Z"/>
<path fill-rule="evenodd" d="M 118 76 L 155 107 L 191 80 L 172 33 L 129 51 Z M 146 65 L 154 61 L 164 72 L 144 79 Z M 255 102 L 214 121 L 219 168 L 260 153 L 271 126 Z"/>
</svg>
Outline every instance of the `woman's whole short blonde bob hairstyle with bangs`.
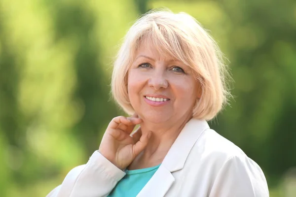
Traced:
<svg viewBox="0 0 296 197">
<path fill-rule="evenodd" d="M 170 10 L 152 10 L 129 29 L 114 62 L 111 91 L 115 101 L 128 114 L 134 109 L 127 92 L 127 73 L 142 44 L 152 43 L 159 53 L 191 67 L 202 94 L 196 98 L 193 118 L 211 120 L 227 103 L 229 76 L 215 40 L 192 16 Z"/>
</svg>

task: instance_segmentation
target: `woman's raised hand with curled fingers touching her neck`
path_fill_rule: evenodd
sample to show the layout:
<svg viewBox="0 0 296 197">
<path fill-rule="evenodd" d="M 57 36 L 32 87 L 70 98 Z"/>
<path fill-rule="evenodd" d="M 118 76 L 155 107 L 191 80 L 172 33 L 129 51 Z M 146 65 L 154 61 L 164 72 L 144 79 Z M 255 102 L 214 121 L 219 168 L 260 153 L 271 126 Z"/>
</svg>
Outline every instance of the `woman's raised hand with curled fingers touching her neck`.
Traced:
<svg viewBox="0 0 296 197">
<path fill-rule="evenodd" d="M 112 119 L 102 138 L 99 152 L 119 169 L 125 169 L 148 144 L 151 132 L 142 135 L 139 128 L 133 136 L 131 132 L 142 119 L 135 114 L 126 118 L 118 116 Z"/>
</svg>

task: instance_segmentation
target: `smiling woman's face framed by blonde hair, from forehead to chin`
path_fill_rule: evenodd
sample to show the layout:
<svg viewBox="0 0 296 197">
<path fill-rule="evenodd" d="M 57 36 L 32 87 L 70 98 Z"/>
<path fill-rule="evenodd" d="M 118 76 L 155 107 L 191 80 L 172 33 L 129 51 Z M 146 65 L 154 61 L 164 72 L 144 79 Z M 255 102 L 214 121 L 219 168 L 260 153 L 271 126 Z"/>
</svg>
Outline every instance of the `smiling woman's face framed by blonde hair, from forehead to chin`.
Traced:
<svg viewBox="0 0 296 197">
<path fill-rule="evenodd" d="M 190 118 L 200 92 L 191 68 L 165 58 L 151 45 L 138 50 L 127 87 L 135 112 L 154 124 Z"/>
</svg>

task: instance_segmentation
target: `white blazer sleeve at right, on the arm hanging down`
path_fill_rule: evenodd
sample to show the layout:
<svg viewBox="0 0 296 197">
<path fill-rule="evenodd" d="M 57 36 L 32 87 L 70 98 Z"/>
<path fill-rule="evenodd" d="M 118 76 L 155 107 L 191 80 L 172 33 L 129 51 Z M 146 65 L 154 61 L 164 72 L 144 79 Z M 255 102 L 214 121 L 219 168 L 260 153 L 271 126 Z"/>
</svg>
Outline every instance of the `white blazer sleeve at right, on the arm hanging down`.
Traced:
<svg viewBox="0 0 296 197">
<path fill-rule="evenodd" d="M 209 197 L 269 197 L 265 176 L 248 157 L 229 158 L 219 171 Z"/>
</svg>

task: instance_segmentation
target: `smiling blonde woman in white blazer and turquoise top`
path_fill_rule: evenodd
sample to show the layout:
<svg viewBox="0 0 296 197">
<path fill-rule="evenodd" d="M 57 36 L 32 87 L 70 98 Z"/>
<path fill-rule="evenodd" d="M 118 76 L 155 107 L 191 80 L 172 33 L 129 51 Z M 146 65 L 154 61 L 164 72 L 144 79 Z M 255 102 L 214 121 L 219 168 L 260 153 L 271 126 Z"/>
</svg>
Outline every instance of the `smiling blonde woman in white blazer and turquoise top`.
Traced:
<svg viewBox="0 0 296 197">
<path fill-rule="evenodd" d="M 207 124 L 230 95 L 221 57 L 188 14 L 140 18 L 112 75 L 114 99 L 134 115 L 114 118 L 48 197 L 268 197 L 259 165 Z"/>
</svg>

